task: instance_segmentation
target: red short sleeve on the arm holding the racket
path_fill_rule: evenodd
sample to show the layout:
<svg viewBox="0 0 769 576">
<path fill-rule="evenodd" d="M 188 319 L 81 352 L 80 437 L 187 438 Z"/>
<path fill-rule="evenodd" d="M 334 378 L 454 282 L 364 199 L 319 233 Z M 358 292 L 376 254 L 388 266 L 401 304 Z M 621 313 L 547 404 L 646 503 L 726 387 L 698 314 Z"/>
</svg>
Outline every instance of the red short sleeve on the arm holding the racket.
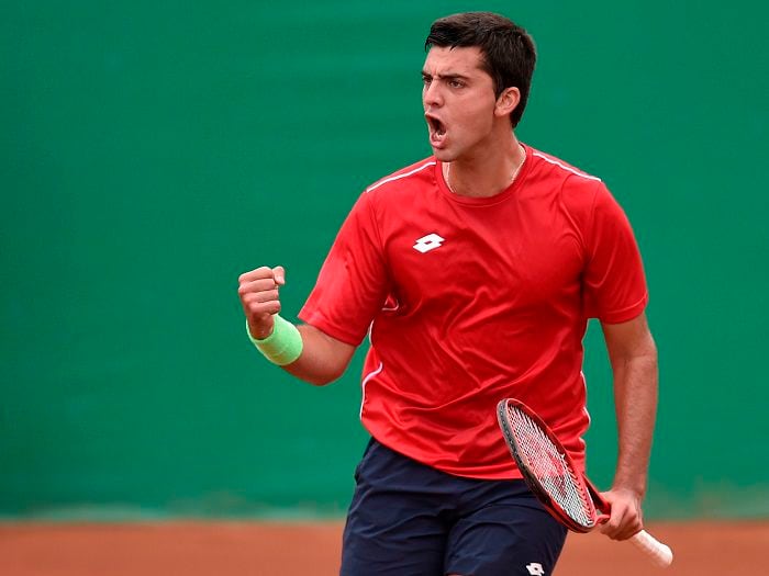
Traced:
<svg viewBox="0 0 769 576">
<path fill-rule="evenodd" d="M 603 183 L 593 200 L 586 240 L 587 316 L 608 324 L 632 320 L 648 302 L 644 266 L 631 223 Z"/>
</svg>

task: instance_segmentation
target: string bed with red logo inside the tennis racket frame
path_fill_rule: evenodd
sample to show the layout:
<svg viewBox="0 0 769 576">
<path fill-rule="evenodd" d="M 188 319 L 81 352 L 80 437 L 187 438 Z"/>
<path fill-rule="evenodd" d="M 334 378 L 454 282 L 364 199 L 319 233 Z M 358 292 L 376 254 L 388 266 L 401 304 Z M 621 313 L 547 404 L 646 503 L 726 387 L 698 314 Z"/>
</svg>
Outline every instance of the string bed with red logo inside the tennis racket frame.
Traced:
<svg viewBox="0 0 769 576">
<path fill-rule="evenodd" d="M 581 483 L 576 479 L 566 456 L 526 414 L 514 407 L 509 407 L 508 414 L 530 472 L 572 520 L 592 527 L 595 523 L 595 508 Z"/>
</svg>

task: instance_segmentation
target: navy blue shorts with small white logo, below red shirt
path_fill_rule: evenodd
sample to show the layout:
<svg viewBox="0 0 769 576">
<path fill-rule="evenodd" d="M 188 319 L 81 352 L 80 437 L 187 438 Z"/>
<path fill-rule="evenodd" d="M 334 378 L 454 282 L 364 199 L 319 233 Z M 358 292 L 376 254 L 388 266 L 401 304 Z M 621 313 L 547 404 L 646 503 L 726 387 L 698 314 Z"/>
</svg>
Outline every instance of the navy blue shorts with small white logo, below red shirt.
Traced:
<svg viewBox="0 0 769 576">
<path fill-rule="evenodd" d="M 544 576 L 564 547 L 523 481 L 453 476 L 376 440 L 355 479 L 342 576 Z"/>
</svg>

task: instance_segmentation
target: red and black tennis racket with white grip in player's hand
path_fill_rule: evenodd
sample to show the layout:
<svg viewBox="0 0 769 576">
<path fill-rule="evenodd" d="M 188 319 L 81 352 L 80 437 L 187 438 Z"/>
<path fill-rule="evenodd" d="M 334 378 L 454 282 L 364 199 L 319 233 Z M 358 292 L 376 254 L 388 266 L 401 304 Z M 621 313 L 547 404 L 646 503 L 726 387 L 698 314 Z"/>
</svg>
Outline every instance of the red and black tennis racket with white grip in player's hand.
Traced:
<svg viewBox="0 0 769 576">
<path fill-rule="evenodd" d="M 589 532 L 609 519 L 610 504 L 577 472 L 558 438 L 528 406 L 503 399 L 497 405 L 497 418 L 523 478 L 556 520 L 575 532 Z M 672 563 L 670 547 L 645 530 L 631 542 L 657 566 Z"/>
</svg>

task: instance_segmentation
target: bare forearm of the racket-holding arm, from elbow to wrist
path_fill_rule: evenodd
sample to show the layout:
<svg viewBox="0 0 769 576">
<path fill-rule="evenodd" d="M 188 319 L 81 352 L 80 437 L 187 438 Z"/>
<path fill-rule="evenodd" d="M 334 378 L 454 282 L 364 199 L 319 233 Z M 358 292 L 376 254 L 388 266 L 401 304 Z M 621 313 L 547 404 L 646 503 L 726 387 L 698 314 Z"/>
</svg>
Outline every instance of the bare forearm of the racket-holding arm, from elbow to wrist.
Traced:
<svg viewBox="0 0 769 576">
<path fill-rule="evenodd" d="M 657 414 L 658 368 L 653 341 L 643 353 L 613 361 L 618 454 L 613 489 L 646 493 Z"/>
</svg>

